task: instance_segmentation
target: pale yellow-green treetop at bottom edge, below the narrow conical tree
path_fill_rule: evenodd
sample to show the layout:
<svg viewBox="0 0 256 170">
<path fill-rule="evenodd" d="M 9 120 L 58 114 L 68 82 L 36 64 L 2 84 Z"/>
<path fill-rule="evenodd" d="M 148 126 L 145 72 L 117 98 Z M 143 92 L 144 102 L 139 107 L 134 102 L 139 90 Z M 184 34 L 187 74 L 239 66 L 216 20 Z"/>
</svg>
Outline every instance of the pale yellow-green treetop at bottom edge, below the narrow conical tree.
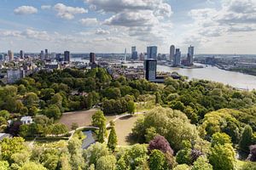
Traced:
<svg viewBox="0 0 256 170">
<path fill-rule="evenodd" d="M 96 170 L 115 170 L 115 156 L 102 156 L 96 163 Z"/>
</svg>

